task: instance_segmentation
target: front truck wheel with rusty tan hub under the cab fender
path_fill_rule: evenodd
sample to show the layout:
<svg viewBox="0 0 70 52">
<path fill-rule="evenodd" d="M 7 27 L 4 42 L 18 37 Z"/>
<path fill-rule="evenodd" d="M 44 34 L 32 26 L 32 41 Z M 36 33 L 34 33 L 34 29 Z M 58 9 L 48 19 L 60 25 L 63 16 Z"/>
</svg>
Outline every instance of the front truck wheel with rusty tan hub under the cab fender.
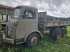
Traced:
<svg viewBox="0 0 70 52">
<path fill-rule="evenodd" d="M 41 36 L 37 33 L 31 33 L 26 39 L 26 47 L 36 46 L 41 40 Z"/>
</svg>

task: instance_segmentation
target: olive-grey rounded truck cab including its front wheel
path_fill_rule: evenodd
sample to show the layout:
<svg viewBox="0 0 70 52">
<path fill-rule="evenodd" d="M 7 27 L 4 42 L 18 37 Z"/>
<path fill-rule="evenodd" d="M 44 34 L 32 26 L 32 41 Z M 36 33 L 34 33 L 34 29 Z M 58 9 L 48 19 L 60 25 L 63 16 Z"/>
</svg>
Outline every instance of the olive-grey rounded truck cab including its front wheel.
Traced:
<svg viewBox="0 0 70 52">
<path fill-rule="evenodd" d="M 12 18 L 1 25 L 4 42 L 33 46 L 41 39 L 41 33 L 38 31 L 38 10 L 34 7 L 15 7 Z"/>
</svg>

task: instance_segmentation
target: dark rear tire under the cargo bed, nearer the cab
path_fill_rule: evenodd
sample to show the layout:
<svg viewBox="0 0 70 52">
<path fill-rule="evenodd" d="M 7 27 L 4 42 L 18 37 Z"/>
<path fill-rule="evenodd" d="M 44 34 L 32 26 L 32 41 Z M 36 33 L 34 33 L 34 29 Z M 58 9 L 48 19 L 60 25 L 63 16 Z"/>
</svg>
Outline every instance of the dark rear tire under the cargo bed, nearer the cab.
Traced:
<svg viewBox="0 0 70 52">
<path fill-rule="evenodd" d="M 55 28 L 51 31 L 51 38 L 56 40 L 56 39 L 60 39 L 62 35 L 62 31 L 60 28 Z"/>
</svg>

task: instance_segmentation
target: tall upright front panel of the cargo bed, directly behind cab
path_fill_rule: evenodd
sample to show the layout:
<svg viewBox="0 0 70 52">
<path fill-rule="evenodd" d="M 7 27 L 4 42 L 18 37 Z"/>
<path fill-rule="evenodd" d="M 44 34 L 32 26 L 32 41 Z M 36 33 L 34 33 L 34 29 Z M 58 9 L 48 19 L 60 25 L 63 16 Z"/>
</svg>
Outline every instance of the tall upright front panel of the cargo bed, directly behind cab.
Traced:
<svg viewBox="0 0 70 52">
<path fill-rule="evenodd" d="M 38 13 L 38 29 L 42 33 L 44 32 L 45 17 L 46 17 L 46 12 Z"/>
</svg>

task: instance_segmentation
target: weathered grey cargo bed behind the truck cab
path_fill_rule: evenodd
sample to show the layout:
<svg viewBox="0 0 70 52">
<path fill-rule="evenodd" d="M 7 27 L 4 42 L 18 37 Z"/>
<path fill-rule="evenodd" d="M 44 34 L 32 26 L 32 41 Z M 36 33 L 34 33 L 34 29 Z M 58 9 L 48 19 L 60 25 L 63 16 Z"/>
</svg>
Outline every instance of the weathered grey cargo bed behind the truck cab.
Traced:
<svg viewBox="0 0 70 52">
<path fill-rule="evenodd" d="M 47 15 L 46 12 L 38 13 L 38 29 L 41 32 L 47 27 L 70 26 L 70 18 L 53 17 Z"/>
</svg>

